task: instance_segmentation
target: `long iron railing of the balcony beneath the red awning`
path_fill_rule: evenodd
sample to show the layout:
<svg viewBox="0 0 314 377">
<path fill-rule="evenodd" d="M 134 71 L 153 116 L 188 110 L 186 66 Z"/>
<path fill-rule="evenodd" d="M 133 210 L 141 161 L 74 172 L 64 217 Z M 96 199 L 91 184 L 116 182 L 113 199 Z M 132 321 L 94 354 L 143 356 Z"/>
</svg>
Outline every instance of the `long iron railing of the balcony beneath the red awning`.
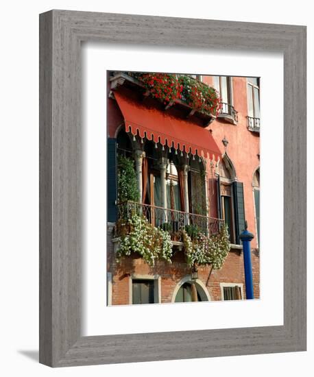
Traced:
<svg viewBox="0 0 314 377">
<path fill-rule="evenodd" d="M 121 229 L 128 219 L 133 215 L 141 215 L 145 217 L 153 226 L 162 228 L 171 234 L 171 239 L 177 239 L 181 230 L 189 232 L 202 232 L 206 236 L 217 234 L 224 223 L 224 220 L 204 215 L 195 215 L 193 213 L 182 212 L 180 210 L 171 210 L 148 204 L 137 202 L 123 202 L 117 205 L 118 221 L 116 236 L 119 236 Z"/>
</svg>

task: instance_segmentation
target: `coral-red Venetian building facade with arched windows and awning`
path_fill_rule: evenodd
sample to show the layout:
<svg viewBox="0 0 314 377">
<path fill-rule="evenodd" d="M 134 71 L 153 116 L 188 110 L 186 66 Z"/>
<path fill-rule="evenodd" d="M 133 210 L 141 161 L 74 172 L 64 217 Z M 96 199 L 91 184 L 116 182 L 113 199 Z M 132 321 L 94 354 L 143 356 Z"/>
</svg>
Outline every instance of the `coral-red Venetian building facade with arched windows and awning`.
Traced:
<svg viewBox="0 0 314 377">
<path fill-rule="evenodd" d="M 147 84 L 140 73 L 108 73 L 107 304 L 245 299 L 239 238 L 245 221 L 254 234 L 254 298 L 259 298 L 259 80 L 170 76 L 146 76 Z M 154 92 L 156 82 L 161 91 Z M 193 108 L 188 96 L 195 87 L 206 93 L 215 88 L 219 106 Z M 118 182 L 123 164 L 134 179 L 134 186 L 125 182 L 125 193 Z M 170 234 L 171 263 L 147 263 L 133 252 L 117 260 L 121 223 L 134 214 Z M 182 232 L 215 236 L 221 224 L 228 226 L 230 243 L 221 268 L 191 267 Z"/>
</svg>

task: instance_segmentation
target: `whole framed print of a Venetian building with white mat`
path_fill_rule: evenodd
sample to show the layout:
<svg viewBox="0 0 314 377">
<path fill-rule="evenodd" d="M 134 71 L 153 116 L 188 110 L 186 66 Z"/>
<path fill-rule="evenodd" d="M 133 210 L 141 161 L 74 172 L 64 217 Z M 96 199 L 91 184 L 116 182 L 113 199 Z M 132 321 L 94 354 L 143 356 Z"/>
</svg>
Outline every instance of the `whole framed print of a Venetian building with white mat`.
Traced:
<svg viewBox="0 0 314 377">
<path fill-rule="evenodd" d="M 40 363 L 306 349 L 305 68 L 302 26 L 40 15 Z"/>
</svg>

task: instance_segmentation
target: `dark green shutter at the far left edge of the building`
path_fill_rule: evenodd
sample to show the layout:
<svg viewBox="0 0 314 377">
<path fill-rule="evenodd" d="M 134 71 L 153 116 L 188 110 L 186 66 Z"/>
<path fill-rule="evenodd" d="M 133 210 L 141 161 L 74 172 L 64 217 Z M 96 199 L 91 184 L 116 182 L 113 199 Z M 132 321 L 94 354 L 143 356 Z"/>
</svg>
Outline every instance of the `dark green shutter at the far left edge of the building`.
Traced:
<svg viewBox="0 0 314 377">
<path fill-rule="evenodd" d="M 108 221 L 117 221 L 117 139 L 107 139 L 107 207 Z"/>
</svg>

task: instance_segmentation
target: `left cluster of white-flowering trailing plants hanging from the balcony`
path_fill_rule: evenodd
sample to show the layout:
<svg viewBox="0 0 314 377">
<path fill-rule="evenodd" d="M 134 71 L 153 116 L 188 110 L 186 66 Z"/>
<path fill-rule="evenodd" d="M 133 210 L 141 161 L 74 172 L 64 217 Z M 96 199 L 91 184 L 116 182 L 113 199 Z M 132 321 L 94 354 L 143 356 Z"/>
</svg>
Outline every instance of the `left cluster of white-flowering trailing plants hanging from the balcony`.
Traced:
<svg viewBox="0 0 314 377">
<path fill-rule="evenodd" d="M 116 260 L 119 263 L 123 256 L 137 253 L 149 264 L 154 266 L 158 259 L 171 263 L 172 243 L 168 232 L 152 226 L 143 216 L 134 214 L 128 223 L 128 234 L 121 235 L 120 247 Z"/>
</svg>

